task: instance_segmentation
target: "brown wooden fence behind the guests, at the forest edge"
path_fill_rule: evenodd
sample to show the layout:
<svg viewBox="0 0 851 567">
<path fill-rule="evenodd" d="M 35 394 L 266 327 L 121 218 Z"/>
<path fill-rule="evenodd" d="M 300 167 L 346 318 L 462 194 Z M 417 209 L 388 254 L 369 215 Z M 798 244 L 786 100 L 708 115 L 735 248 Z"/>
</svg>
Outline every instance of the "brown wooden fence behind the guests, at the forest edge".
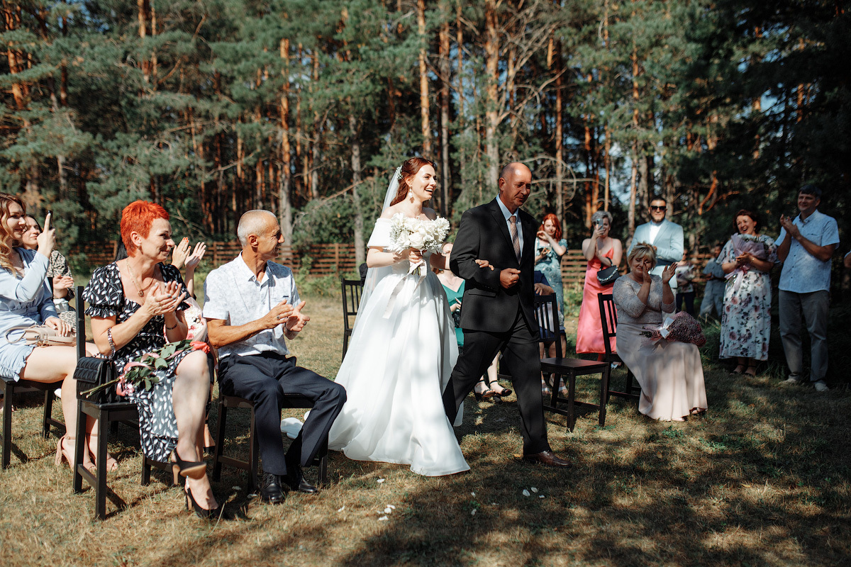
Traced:
<svg viewBox="0 0 851 567">
<path fill-rule="evenodd" d="M 118 249 L 118 241 L 87 242 L 71 248 L 71 254 L 85 254 L 89 267 L 96 268 L 109 264 Z M 233 242 L 208 242 L 208 260 L 213 268 L 230 262 L 239 254 L 240 246 Z M 699 272 L 711 258 L 711 254 L 698 254 L 691 258 Z M 357 272 L 355 246 L 353 244 L 313 244 L 308 247 L 293 248 L 282 246 L 277 262 L 289 266 L 294 271 L 305 268 L 309 275 L 353 274 Z M 587 261 L 581 250 L 568 250 L 562 258 L 562 281 L 564 284 L 583 283 Z M 621 261 L 620 272 L 626 270 L 626 258 Z M 700 281 L 700 280 L 696 280 Z"/>
</svg>

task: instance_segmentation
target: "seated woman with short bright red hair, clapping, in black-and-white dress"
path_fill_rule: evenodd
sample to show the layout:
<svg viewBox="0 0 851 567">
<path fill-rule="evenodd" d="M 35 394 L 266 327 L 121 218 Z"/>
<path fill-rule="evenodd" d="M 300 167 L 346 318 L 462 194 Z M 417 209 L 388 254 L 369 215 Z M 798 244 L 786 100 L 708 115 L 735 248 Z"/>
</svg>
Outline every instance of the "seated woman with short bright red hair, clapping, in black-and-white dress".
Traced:
<svg viewBox="0 0 851 567">
<path fill-rule="evenodd" d="M 147 201 L 124 207 L 121 238 L 128 257 L 96 269 L 83 295 L 94 343 L 123 372 L 167 341 L 186 339 L 189 304 L 180 270 L 163 264 L 174 248 L 163 207 Z M 159 354 L 165 364 L 154 365 L 149 383 L 121 387 L 139 407 L 142 451 L 154 461 L 170 460 L 175 482 L 179 474 L 186 477 L 187 508 L 191 501 L 198 516 L 216 517 L 219 505 L 202 460 L 208 355 L 202 349 Z"/>
</svg>

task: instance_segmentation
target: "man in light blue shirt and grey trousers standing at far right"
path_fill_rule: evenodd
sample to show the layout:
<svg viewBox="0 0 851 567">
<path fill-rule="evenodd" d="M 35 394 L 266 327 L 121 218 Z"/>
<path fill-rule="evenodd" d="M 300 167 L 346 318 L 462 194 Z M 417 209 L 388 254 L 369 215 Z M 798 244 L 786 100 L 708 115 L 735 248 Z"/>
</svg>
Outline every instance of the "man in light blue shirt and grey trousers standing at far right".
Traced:
<svg viewBox="0 0 851 567">
<path fill-rule="evenodd" d="M 831 256 L 839 244 L 837 221 L 820 213 L 821 190 L 804 185 L 798 190 L 801 213 L 791 220 L 780 216 L 777 258 L 780 272 L 780 339 L 789 366 L 786 382 L 803 379 L 801 320 L 807 324 L 812 362 L 809 379 L 819 392 L 828 390 L 827 311 L 831 288 Z"/>
</svg>

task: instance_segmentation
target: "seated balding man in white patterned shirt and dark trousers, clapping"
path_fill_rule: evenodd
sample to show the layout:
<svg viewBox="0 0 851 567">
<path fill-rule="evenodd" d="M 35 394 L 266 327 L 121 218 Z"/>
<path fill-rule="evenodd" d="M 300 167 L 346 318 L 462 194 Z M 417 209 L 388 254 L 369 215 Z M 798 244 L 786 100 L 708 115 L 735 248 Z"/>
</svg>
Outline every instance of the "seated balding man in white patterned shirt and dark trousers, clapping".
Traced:
<svg viewBox="0 0 851 567">
<path fill-rule="evenodd" d="M 301 310 L 291 269 L 271 260 L 283 244 L 274 213 L 248 211 L 239 219 L 243 251 L 204 281 L 204 318 L 209 342 L 219 349 L 219 387 L 254 402 L 263 463 L 260 500 L 278 504 L 284 490 L 316 492 L 301 473 L 325 449 L 328 430 L 346 402 L 346 390 L 316 372 L 295 366 L 285 338 L 293 339 L 310 317 Z M 283 451 L 283 394 L 313 400 L 301 431 Z"/>
</svg>

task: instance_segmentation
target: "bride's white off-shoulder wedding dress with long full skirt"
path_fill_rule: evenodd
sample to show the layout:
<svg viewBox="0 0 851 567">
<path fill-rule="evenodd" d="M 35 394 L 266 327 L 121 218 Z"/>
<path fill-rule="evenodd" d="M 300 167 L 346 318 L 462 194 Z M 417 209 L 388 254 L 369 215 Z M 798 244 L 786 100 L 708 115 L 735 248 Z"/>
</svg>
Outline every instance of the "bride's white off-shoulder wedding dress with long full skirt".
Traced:
<svg viewBox="0 0 851 567">
<path fill-rule="evenodd" d="M 389 245 L 390 224 L 375 222 L 369 247 Z M 346 388 L 346 405 L 328 447 L 356 461 L 409 464 L 414 473 L 441 476 L 470 466 L 443 411 L 443 388 L 458 358 L 454 326 L 443 286 L 424 258 L 425 277 L 409 275 L 410 264 L 399 262 L 364 292 L 336 379 Z"/>
</svg>

